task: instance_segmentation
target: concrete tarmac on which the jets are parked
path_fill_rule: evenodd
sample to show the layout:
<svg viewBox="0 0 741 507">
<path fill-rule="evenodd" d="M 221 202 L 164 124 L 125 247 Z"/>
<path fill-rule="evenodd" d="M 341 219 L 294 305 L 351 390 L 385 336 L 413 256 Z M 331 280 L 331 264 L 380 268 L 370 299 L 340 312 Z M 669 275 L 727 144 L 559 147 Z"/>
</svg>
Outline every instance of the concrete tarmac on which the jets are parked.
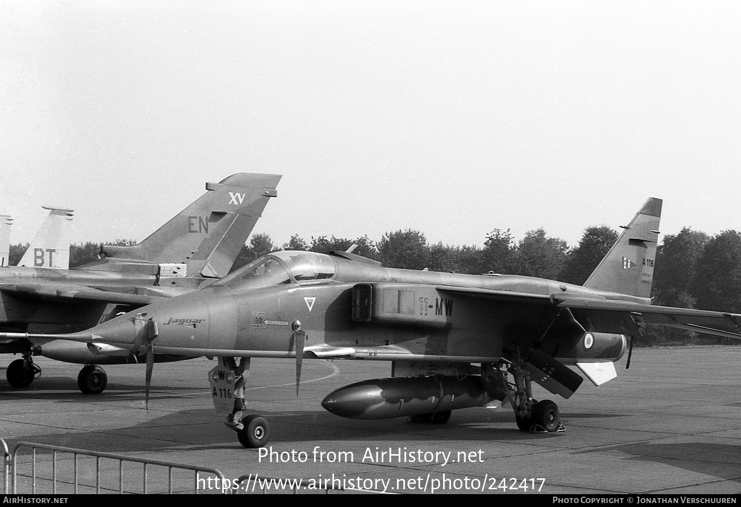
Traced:
<svg viewBox="0 0 741 507">
<path fill-rule="evenodd" d="M 207 371 L 215 361 L 156 364 L 148 412 L 144 365 L 106 366 L 107 390 L 86 396 L 76 385 L 79 365 L 37 362 L 42 377 L 24 389 L 11 388 L 4 380 L 7 364 L 0 367 L 0 438 L 11 448 L 29 441 L 206 465 L 229 480 L 243 474 L 334 479 L 402 493 L 741 492 L 740 347 L 638 348 L 628 371 L 622 359 L 616 380 L 599 387 L 585 380 L 569 400 L 536 385 L 537 399 L 559 405 L 566 428 L 559 434 L 519 431 L 508 407 L 453 411 L 444 425 L 346 420 L 319 402 L 342 385 L 390 377 L 390 363 L 305 360 L 296 397 L 292 361 L 253 359 L 247 412 L 270 422 L 262 453 L 243 448 L 213 410 Z M 46 463 L 50 474 L 49 456 L 38 460 L 37 472 Z M 93 472 L 79 473 L 94 484 Z M 101 472 L 114 483 L 118 473 L 112 465 Z M 26 475 L 19 491 L 30 491 Z M 189 481 L 176 490 L 192 488 Z M 51 491 L 39 480 L 42 486 L 47 489 L 37 491 Z M 204 481 L 199 488 L 208 486 Z M 162 487 L 150 485 L 149 491 Z M 58 490 L 66 491 L 72 490 Z"/>
</svg>

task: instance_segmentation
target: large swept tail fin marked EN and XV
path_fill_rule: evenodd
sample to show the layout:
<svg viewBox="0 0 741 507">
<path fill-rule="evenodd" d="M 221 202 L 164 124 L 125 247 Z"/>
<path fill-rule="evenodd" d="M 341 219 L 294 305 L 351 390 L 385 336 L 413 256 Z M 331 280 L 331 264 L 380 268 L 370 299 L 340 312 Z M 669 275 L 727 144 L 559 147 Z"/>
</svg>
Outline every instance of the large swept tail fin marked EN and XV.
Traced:
<svg viewBox="0 0 741 507">
<path fill-rule="evenodd" d="M 278 195 L 281 177 L 239 173 L 207 183 L 205 194 L 138 245 L 103 245 L 104 259 L 79 269 L 139 271 L 173 278 L 224 276 L 268 200 Z"/>
</svg>

